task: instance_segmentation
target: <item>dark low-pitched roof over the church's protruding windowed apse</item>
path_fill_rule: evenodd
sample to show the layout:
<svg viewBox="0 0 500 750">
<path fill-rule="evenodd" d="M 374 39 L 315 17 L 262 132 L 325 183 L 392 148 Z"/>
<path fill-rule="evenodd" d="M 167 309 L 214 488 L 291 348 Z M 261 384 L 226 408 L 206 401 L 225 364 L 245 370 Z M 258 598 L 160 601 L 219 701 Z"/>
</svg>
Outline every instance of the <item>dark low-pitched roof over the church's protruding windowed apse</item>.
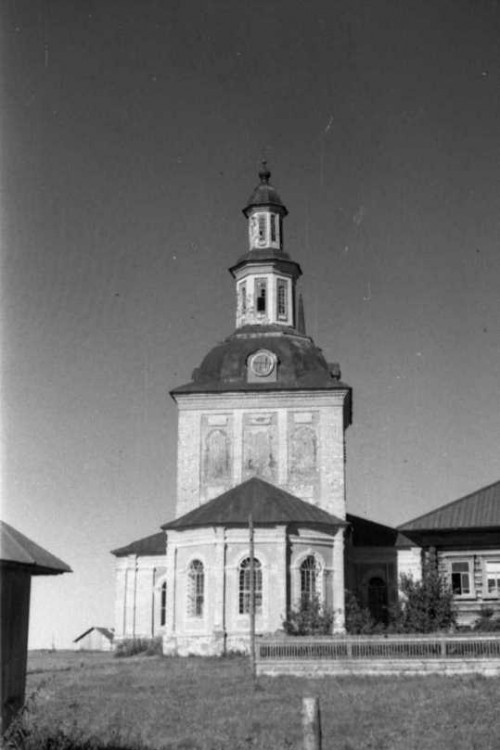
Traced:
<svg viewBox="0 0 500 750">
<path fill-rule="evenodd" d="M 314 524 L 346 526 L 346 522 L 316 505 L 291 495 L 263 479 L 252 477 L 224 492 L 199 508 L 162 526 L 186 529 L 195 526 L 248 526 L 248 517 L 256 525 Z"/>
</svg>

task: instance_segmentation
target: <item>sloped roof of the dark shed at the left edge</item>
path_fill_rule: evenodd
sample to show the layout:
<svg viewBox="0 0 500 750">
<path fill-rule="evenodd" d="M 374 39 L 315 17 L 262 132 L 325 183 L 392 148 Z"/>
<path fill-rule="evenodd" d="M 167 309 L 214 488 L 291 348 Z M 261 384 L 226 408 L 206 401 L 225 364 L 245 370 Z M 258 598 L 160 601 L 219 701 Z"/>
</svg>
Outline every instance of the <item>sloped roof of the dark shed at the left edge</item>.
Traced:
<svg viewBox="0 0 500 750">
<path fill-rule="evenodd" d="M 5 521 L 0 521 L 0 562 L 28 568 L 31 575 L 72 572 L 69 565 Z"/>
</svg>

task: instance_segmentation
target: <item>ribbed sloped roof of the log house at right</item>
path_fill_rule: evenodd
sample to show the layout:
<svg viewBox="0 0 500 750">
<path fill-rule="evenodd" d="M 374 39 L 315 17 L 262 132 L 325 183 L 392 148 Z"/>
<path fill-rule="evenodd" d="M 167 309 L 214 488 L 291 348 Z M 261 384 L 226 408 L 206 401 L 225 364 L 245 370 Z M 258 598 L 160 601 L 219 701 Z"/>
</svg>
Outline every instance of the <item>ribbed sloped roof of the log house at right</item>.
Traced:
<svg viewBox="0 0 500 750">
<path fill-rule="evenodd" d="M 500 528 L 500 482 L 401 524 L 401 531 Z"/>
</svg>

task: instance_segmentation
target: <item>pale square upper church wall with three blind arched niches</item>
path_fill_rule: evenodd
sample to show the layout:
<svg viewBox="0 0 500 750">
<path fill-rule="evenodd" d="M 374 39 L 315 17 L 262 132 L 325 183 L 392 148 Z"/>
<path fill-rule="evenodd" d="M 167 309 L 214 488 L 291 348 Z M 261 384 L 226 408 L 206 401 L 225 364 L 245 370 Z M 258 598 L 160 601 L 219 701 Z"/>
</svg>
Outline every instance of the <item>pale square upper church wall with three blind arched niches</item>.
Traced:
<svg viewBox="0 0 500 750">
<path fill-rule="evenodd" d="M 176 516 L 258 476 L 345 518 L 344 398 L 178 394 Z"/>
</svg>

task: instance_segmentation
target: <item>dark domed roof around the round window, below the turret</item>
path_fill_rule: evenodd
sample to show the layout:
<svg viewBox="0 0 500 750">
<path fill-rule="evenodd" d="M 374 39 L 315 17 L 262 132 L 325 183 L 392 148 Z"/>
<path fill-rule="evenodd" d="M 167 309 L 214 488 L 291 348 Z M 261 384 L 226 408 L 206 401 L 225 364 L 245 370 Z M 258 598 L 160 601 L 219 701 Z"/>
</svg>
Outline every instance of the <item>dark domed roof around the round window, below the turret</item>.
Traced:
<svg viewBox="0 0 500 750">
<path fill-rule="evenodd" d="M 264 349 L 277 358 L 274 381 L 248 382 L 247 362 Z M 172 393 L 345 389 L 338 366 L 325 360 L 309 336 L 281 326 L 244 326 L 215 346 L 192 375 L 191 383 Z"/>
</svg>

